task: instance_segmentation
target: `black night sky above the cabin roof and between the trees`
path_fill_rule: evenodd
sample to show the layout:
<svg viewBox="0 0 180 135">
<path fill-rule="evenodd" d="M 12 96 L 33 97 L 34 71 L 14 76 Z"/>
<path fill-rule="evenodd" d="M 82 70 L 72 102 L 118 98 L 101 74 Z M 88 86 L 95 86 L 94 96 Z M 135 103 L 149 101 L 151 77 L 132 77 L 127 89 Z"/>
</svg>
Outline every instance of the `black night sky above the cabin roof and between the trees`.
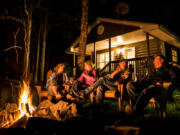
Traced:
<svg viewBox="0 0 180 135">
<path fill-rule="evenodd" d="M 130 11 L 127 15 L 117 16 L 115 7 L 122 1 L 129 4 Z M 0 15 L 5 14 L 5 9 L 9 15 L 21 14 L 23 0 L 5 2 L 0 4 Z M 72 60 L 72 56 L 65 54 L 64 51 L 80 34 L 81 0 L 41 0 L 41 6 L 48 7 L 46 63 L 54 66 L 55 63 Z M 180 36 L 179 13 L 178 2 L 174 0 L 89 0 L 89 24 L 97 17 L 159 23 Z M 36 25 L 37 22 L 33 23 Z M 4 30 L 0 32 L 1 35 L 12 33 L 10 29 L 12 26 L 4 25 L 1 20 L 0 24 Z M 0 43 L 3 44 L 1 53 L 9 46 L 6 45 L 8 42 L 4 41 L 9 38 L 1 36 Z"/>
</svg>

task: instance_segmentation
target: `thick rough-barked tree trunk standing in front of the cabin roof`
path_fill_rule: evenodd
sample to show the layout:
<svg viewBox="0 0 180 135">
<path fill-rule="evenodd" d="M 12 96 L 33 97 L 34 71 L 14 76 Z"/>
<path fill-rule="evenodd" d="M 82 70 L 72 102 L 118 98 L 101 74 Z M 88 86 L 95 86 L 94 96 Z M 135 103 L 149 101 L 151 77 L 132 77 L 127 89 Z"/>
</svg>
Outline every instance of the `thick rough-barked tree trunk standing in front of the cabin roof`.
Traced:
<svg viewBox="0 0 180 135">
<path fill-rule="evenodd" d="M 88 0 L 82 0 L 81 34 L 79 42 L 79 52 L 77 64 L 80 70 L 83 69 L 83 63 L 86 54 L 86 43 L 88 33 Z"/>
</svg>

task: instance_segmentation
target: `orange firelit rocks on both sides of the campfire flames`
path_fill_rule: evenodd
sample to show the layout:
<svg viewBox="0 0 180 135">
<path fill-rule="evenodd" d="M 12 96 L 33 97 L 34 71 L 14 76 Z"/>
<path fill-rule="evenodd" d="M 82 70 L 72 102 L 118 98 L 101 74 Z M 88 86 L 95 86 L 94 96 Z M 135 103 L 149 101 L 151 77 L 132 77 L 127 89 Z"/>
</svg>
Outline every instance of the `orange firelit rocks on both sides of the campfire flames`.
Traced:
<svg viewBox="0 0 180 135">
<path fill-rule="evenodd" d="M 26 120 L 17 120 L 19 114 L 20 110 L 18 109 L 17 104 L 8 103 L 0 112 L 0 128 L 19 125 L 18 123 L 28 120 L 28 118 L 25 118 Z M 58 121 L 64 121 L 65 119 L 76 116 L 78 116 L 76 104 L 65 101 L 59 101 L 58 103 L 54 104 L 49 100 L 44 100 L 39 104 L 36 111 L 33 113 L 33 117 L 41 117 Z"/>
</svg>

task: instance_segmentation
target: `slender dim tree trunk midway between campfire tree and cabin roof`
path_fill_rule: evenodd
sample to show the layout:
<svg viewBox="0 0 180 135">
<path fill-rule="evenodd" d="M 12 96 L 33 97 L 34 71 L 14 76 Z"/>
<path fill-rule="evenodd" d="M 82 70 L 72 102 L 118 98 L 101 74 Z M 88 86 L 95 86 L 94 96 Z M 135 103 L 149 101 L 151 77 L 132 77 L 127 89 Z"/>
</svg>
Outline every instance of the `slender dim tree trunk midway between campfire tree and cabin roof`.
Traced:
<svg viewBox="0 0 180 135">
<path fill-rule="evenodd" d="M 45 57 L 46 57 L 46 37 L 47 37 L 47 21 L 48 14 L 45 13 L 44 25 L 43 25 L 43 43 L 42 43 L 42 53 L 41 53 L 41 71 L 40 71 L 40 81 L 44 81 L 44 68 L 45 68 Z"/>
</svg>

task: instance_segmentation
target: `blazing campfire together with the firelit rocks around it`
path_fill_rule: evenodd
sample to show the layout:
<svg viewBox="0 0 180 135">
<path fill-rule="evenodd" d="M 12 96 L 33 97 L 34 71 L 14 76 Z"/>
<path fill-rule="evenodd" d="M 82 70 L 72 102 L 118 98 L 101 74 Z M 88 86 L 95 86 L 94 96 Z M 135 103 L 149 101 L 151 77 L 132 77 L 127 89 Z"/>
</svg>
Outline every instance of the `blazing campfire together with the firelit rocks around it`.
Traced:
<svg viewBox="0 0 180 135">
<path fill-rule="evenodd" d="M 77 116 L 76 104 L 62 100 L 56 104 L 44 100 L 39 106 L 33 106 L 30 86 L 23 81 L 20 87 L 18 103 L 8 103 L 5 109 L 0 111 L 0 128 L 16 126 L 25 128 L 30 117 L 64 121 Z"/>
</svg>

